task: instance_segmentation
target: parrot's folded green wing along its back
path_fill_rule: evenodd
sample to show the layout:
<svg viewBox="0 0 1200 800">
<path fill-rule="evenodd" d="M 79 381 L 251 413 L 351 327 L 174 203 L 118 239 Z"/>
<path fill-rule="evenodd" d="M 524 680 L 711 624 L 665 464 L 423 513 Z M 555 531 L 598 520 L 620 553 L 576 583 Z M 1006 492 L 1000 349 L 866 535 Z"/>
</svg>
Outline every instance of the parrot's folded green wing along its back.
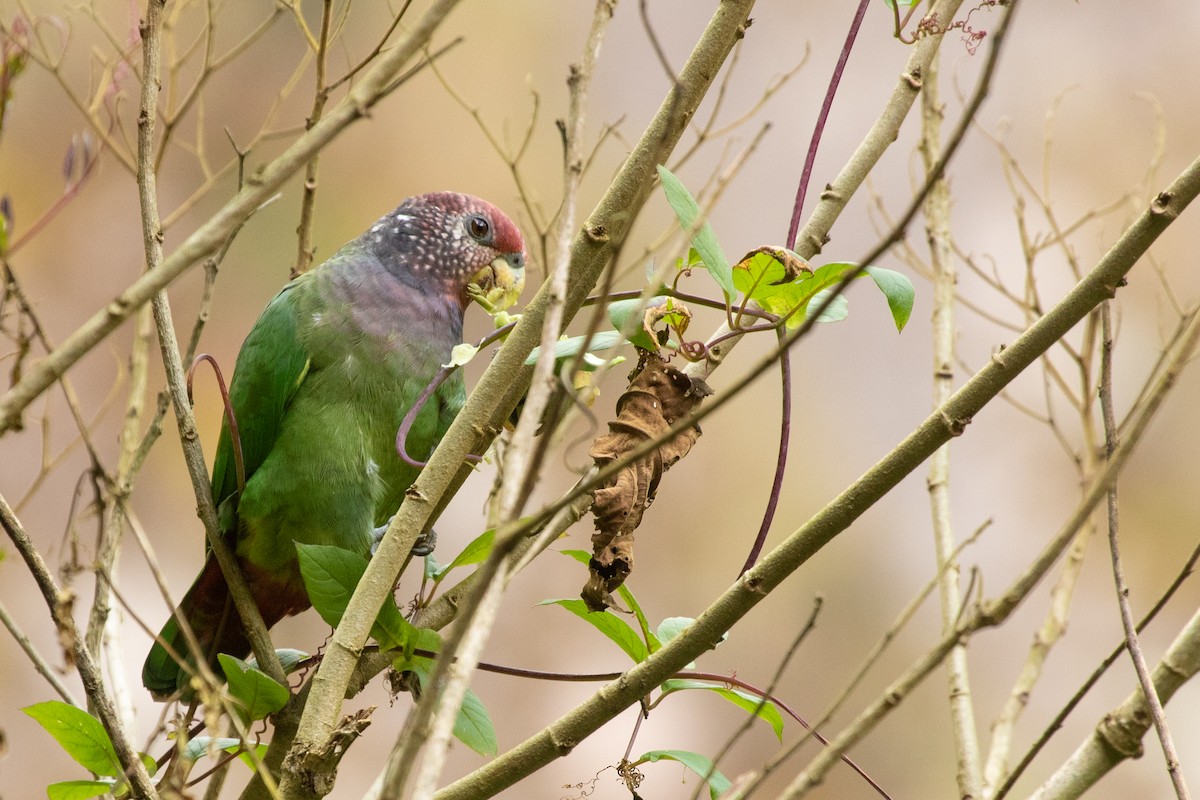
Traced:
<svg viewBox="0 0 1200 800">
<path fill-rule="evenodd" d="M 271 300 L 238 354 L 229 402 L 238 422 L 246 480 L 271 452 L 283 415 L 308 373 L 308 353 L 296 330 L 294 305 L 294 294 L 302 290 L 307 277 L 296 278 Z M 217 507 L 238 491 L 234 441 L 227 419 L 221 426 L 212 462 L 212 494 Z"/>
</svg>

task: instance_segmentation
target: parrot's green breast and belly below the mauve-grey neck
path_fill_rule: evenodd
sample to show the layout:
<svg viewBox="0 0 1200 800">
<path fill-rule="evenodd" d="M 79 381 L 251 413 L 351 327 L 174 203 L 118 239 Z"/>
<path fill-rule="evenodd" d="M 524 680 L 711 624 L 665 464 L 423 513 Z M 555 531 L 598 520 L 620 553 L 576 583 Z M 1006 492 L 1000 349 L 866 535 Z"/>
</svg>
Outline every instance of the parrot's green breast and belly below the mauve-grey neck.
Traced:
<svg viewBox="0 0 1200 800">
<path fill-rule="evenodd" d="M 305 366 L 236 513 L 238 553 L 290 582 L 299 581 L 294 542 L 367 554 L 372 529 L 396 511 L 418 475 L 397 453 L 396 432 L 448 357 L 439 350 L 450 345 L 418 345 L 404 336 L 403 319 L 389 325 L 361 301 L 342 300 L 334 271 L 306 278 L 272 302 L 292 314 L 295 331 L 280 349 L 299 347 Z M 233 397 L 235 408 L 239 399 Z M 428 457 L 462 402 L 456 375 L 418 414 L 408 437 L 414 458 Z"/>
</svg>

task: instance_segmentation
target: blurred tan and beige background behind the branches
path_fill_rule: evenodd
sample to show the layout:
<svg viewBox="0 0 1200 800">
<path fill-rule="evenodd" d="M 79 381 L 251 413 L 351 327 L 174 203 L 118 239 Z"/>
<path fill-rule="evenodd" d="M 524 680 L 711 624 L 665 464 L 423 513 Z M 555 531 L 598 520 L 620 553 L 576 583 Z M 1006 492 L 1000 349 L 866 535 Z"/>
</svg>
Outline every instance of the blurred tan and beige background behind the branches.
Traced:
<svg viewBox="0 0 1200 800">
<path fill-rule="evenodd" d="M 424 4 L 416 4 L 424 6 Z M 98 18 L 118 34 L 136 30 L 139 4 L 97 0 Z M 671 64 L 683 64 L 695 37 L 706 24 L 713 2 L 660 0 L 649 4 L 649 16 Z M 804 59 L 804 68 L 774 95 L 745 125 L 707 145 L 682 170 L 689 186 L 698 187 L 732 154 L 744 148 L 763 122 L 772 128 L 757 152 L 730 185 L 712 216 L 731 257 L 763 243 L 782 243 L 792 197 L 804 161 L 812 124 L 820 108 L 834 60 L 853 14 L 854 4 L 784 2 L 764 0 L 755 12 L 737 71 L 726 92 L 721 119 L 731 121 L 751 109 L 763 88 Z M 265 18 L 266 1 L 228 4 L 221 10 L 217 50 L 238 41 Z M 331 58 L 331 73 L 366 53 L 388 24 L 383 4 L 355 4 L 352 19 Z M 304 12 L 316 24 L 319 4 L 305 2 Z M 0 19 L 11 25 L 14 14 L 42 19 L 40 31 L 53 43 L 58 30 L 70 31 L 62 77 L 73 91 L 89 96 L 96 90 L 97 65 L 108 59 L 113 46 L 88 13 L 74 4 L 5 0 Z M 440 70 L 487 125 L 516 142 L 528 126 L 532 95 L 540 110 L 529 151 L 522 162 L 522 179 L 546 209 L 557 203 L 560 185 L 560 149 L 553 121 L 565 114 L 566 65 L 580 58 L 592 4 L 559 2 L 464 2 L 438 34 L 438 43 L 463 36 L 462 44 L 439 61 Z M 184 14 L 196 25 L 198 11 Z M 58 22 L 55 22 L 58 20 Z M 991 30 L 998 14 L 979 11 L 972 23 Z M 812 179 L 814 192 L 832 179 L 874 121 L 892 91 L 908 48 L 890 37 L 890 14 L 876 4 L 851 56 Z M 1043 180 L 1044 125 L 1049 109 L 1061 100 L 1052 134 L 1052 152 L 1045 167 L 1055 211 L 1074 219 L 1090 209 L 1108 206 L 1135 190 L 1154 150 L 1156 106 L 1162 112 L 1165 154 L 1153 182 L 1157 191 L 1200 152 L 1200 104 L 1196 102 L 1195 42 L 1200 35 L 1200 6 L 1187 0 L 1156 4 L 1042 2 L 1022 4 L 1012 41 L 1003 54 L 991 95 L 978 118 L 989 132 L 1002 133 L 1008 148 L 1040 186 Z M 943 48 L 943 95 L 950 101 L 948 118 L 956 120 L 960 103 L 955 91 L 968 92 L 985 59 L 988 42 L 971 55 L 956 35 Z M 181 41 L 190 37 L 181 36 Z M 120 44 L 120 42 L 118 42 Z M 137 48 L 134 60 L 138 60 Z M 239 60 L 216 73 L 205 100 L 188 115 L 180 142 L 197 140 L 203 133 L 214 164 L 230 155 L 223 131 L 247 140 L 262 124 L 278 88 L 288 80 L 304 53 L 294 22 L 282 14 L 271 29 Z M 98 55 L 97 55 L 98 54 Z M 190 85 L 185 71 L 176 91 Z M 312 71 L 283 100 L 274 127 L 302 125 L 311 106 Z M 667 83 L 637 12 L 637 4 L 618 7 L 595 76 L 588 113 L 589 142 L 610 125 L 619 136 L 607 138 L 584 182 L 582 209 L 599 197 L 606 179 L 619 166 L 626 143 L 636 140 L 658 107 Z M 124 76 L 119 84 L 119 136 L 132 137 L 137 108 L 137 82 Z M 712 108 L 712 98 L 706 109 Z M 704 116 L 704 113 L 701 114 Z M 199 121 L 198 121 L 199 120 Z M 0 193 L 12 203 L 16 234 L 23 231 L 62 190 L 61 162 L 72 137 L 85 128 L 80 113 L 67 101 L 55 78 L 30 65 L 14 85 L 0 139 Z M 871 190 L 892 212 L 907 201 L 920 164 L 913 144 L 918 120 L 913 115 L 901 139 L 872 176 Z M 250 164 L 278 152 L 275 139 L 256 148 Z M 685 138 L 685 144 L 690 143 Z M 728 148 L 726 150 L 726 148 Z M 182 148 L 172 149 L 160 174 L 164 211 L 175 209 L 204 180 L 196 157 Z M 317 260 L 358 235 L 402 198 L 426 191 L 452 188 L 486 197 L 509 210 L 528 228 L 517 190 L 472 118 L 428 71 L 418 76 L 378 106 L 371 119 L 353 126 L 320 160 L 317 221 L 313 236 Z M 996 148 L 973 131 L 950 169 L 954 193 L 954 236 L 961 247 L 990 259 L 1013 287 L 1024 275 L 1016 237 L 1014 199 L 1001 169 Z M 228 198 L 234 180 L 226 176 L 167 234 L 166 247 L 178 245 Z M 232 369 L 238 347 L 258 312 L 286 281 L 295 258 L 295 227 L 300 179 L 292 180 L 280 198 L 246 224 L 221 267 L 212 315 L 202 350 Z M 1145 187 L 1142 197 L 1146 199 Z M 875 241 L 877 224 L 868 192 L 853 199 L 833 231 L 833 241 L 818 263 L 859 258 Z M 1136 213 L 1127 204 L 1099 222 L 1084 228 L 1073 247 L 1085 265 L 1094 263 L 1122 227 Z M 1045 231 L 1044 219 L 1030 213 L 1031 227 Z M 1200 245 L 1200 210 L 1190 210 L 1153 251 L 1165 281 L 1180 302 L 1200 299 L 1196 247 Z M 624 266 L 634 276 L 641 264 L 634 258 L 671 223 L 660 196 L 650 201 L 626 247 Z M 924 252 L 920 222 L 910 231 L 910 242 Z M 930 285 L 894 257 L 880 265 L 910 273 L 917 287 L 912 323 L 895 333 L 883 301 L 868 285 L 851 295 L 851 315 L 845 323 L 822 326 L 794 354 L 796 419 L 791 467 L 779 513 L 768 546 L 799 527 L 848 481 L 884 455 L 929 411 L 930 407 Z M 26 247 L 12 258 L 12 266 L 34 300 L 48 336 L 61 342 L 83 320 L 127 285 L 142 270 L 142 243 L 134 184 L 119 163 L 102 157 L 96 174 L 80 194 Z M 534 277 L 542 269 L 533 267 Z M 1042 297 L 1049 307 L 1070 282 L 1061 253 L 1050 252 L 1038 263 Z M 635 278 L 636 279 L 636 278 Z M 202 285 L 193 270 L 172 288 L 176 326 L 181 337 L 190 331 Z M 628 284 L 635 288 L 636 283 Z M 714 294 L 706 278 L 696 277 L 689 290 Z M 978 279 L 964 275 L 961 290 L 978 306 L 1012 321 L 1020 317 Z M 1120 341 L 1116 360 L 1118 413 L 1123 414 L 1151 369 L 1165 332 L 1175 321 L 1163 281 L 1150 263 L 1140 264 L 1129 285 L 1120 294 Z M 970 367 L 985 362 L 990 353 L 1013 335 L 960 308 L 959 351 Z M 715 315 L 701 314 L 695 327 L 715 326 Z M 473 320 L 475 336 L 486 320 Z M 1078 337 L 1076 337 L 1078 338 Z M 126 325 L 70 372 L 86 414 L 101 416 L 94 439 L 102 453 L 115 462 L 115 435 L 120 423 L 126 384 L 124 373 L 131 326 Z M 767 341 L 746 343 L 713 380 L 721 391 L 744 365 L 766 350 Z M 5 374 L 11 356 L 8 343 L 0 354 Z M 157 361 L 157 355 L 154 356 Z M 478 374 L 473 365 L 470 374 Z M 624 368 L 605 386 L 598 411 L 607 415 L 619 393 Z M 965 373 L 959 372 L 961 380 Z M 161 369 L 152 374 L 152 390 L 161 386 Z M 215 392 L 204 379 L 197 398 L 202 438 L 211 451 L 220 425 Z M 7 386 L 7 384 L 6 384 Z M 115 395 L 114 395 L 115 393 Z M 1043 377 L 1031 369 L 1012 389 L 1020 402 L 1044 411 Z M 152 402 L 151 402 L 152 405 Z M 1060 401 L 1055 407 L 1063 429 L 1078 446 L 1078 423 Z M 1126 569 L 1135 613 L 1158 596 L 1196 545 L 1200 531 L 1200 374 L 1187 372 L 1147 439 L 1136 452 L 1122 482 L 1122 536 Z M 43 413 L 48 428 L 41 429 Z M 733 581 L 757 530 L 769 492 L 779 427 L 779 386 L 774 375 L 712 417 L 692 455 L 664 481 L 658 503 L 648 512 L 638 537 L 637 569 L 630 585 L 655 620 L 695 615 Z M 26 411 L 26 429 L 8 434 L 0 444 L 0 492 L 16 503 L 26 494 L 43 457 L 58 457 L 74 438 L 61 391 L 55 387 Z M 584 428 L 578 428 L 584 433 Z M 575 437 L 568 437 L 568 441 Z M 586 446 L 559 447 L 538 498 L 556 497 L 574 481 L 584 459 Z M 79 446 L 61 463 L 20 507 L 20 517 L 42 552 L 58 565 L 67 558 L 67 531 L 72 527 L 83 542 L 86 563 L 95 537 L 95 518 L 86 513 L 91 488 L 84 476 L 88 459 Z M 491 473 L 484 470 L 468 482 L 443 517 L 439 557 L 450 558 L 481 531 L 482 501 Z M 79 485 L 72 517 L 71 498 Z M 1016 576 L 1073 507 L 1079 493 L 1078 475 L 1069 456 L 1042 422 L 1013 404 L 992 403 L 955 441 L 952 492 L 954 519 L 964 537 L 991 521 L 978 545 L 964 553 L 966 566 L 978 565 L 988 596 Z M 133 506 L 145 528 L 173 589 L 182 594 L 202 560 L 202 531 L 194 500 L 180 457 L 174 423 L 155 447 L 133 494 Z M 766 685 L 778 658 L 806 618 L 812 597 L 826 597 L 817 630 L 809 637 L 778 693 L 793 708 L 816 717 L 835 697 L 846 675 L 890 625 L 899 609 L 932 575 L 932 545 L 925 491 L 925 471 L 910 476 L 895 492 L 866 513 L 851 530 L 826 548 L 785 587 L 761 604 L 728 642 L 706 656 L 700 667 L 736 673 L 743 680 Z M 587 548 L 590 523 L 576 527 L 562 547 Z M 30 634 L 53 663 L 61 663 L 48 614 L 36 588 L 10 545 L 0 564 L 0 601 L 17 624 Z M 134 547 L 126 547 L 120 561 L 125 596 L 137 613 L 157 627 L 167 614 L 149 577 L 145 561 Z M 548 597 L 576 596 L 583 571 L 574 561 L 546 554 L 520 576 L 505 600 L 502 620 L 492 634 L 486 658 L 492 662 L 562 672 L 622 669 L 625 657 L 589 626 L 559 608 L 536 607 Z M 91 582 L 76 576 L 72 587 L 90 599 Z M 415 590 L 408 581 L 406 591 Z M 1039 589 L 1001 631 L 984 632 L 972 642 L 972 680 L 980 733 L 1003 703 L 1024 662 L 1032 633 L 1046 604 L 1046 587 Z M 1120 638 L 1115 595 L 1103 539 L 1088 553 L 1082 583 L 1072 609 L 1072 626 L 1054 650 L 1046 674 L 1030 698 L 1030 709 L 1018 727 L 1015 757 L 1036 738 L 1048 720 L 1093 670 Z M 1144 637 L 1147 656 L 1157 661 L 1164 646 L 1192 615 L 1200 588 L 1188 583 Z M 937 638 L 938 614 L 928 603 L 876 667 L 827 733 L 834 733 L 863 703 L 869 702 L 898 670 L 924 652 Z M 328 628 L 316 614 L 289 620 L 277 630 L 276 642 L 313 651 Z M 133 621 L 124 627 L 126 674 L 138 706 L 138 744 L 154 727 L 158 706 L 149 702 L 139 685 L 138 670 L 149 637 Z M 50 699 L 52 690 L 30 667 L 7 633 L 0 636 L 0 730 L 7 752 L 0 756 L 0 796 L 7 800 L 44 795 L 52 781 L 85 777 L 83 770 L 20 706 Z M 408 699 L 391 705 L 377 685 L 349 708 L 378 704 L 374 722 L 350 751 L 341 771 L 335 799 L 358 798 L 380 769 L 385 753 L 402 724 Z M 72 682 L 72 686 L 76 686 Z M 857 762 L 894 798 L 953 796 L 954 760 L 949 735 L 944 676 L 938 673 L 894 712 L 865 742 L 852 751 Z M 1031 790 L 1086 735 L 1099 717 L 1133 687 L 1127 661 L 1118 662 L 1084 700 L 1018 786 Z M 533 684 L 512 678 L 480 674 L 475 690 L 498 726 L 500 748 L 506 750 L 556 720 L 594 687 L 578 684 Z M 82 696 L 82 692 L 79 692 Z M 1200 782 L 1200 688 L 1184 687 L 1168 708 L 1183 768 L 1193 783 Z M 510 789 L 506 798 L 580 796 L 563 788 L 586 784 L 596 799 L 628 796 L 613 770 L 625 752 L 635 710 L 622 715 L 602 732 L 581 744 L 535 777 Z M 634 754 L 655 748 L 695 750 L 714 753 L 742 721 L 742 712 L 707 693 L 679 696 L 654 711 L 642 726 Z M 799 728 L 788 726 L 787 738 Z M 1162 766 L 1157 742 L 1148 739 L 1147 756 L 1123 764 L 1091 796 L 1168 796 L 1170 784 Z M 778 746 L 766 726 L 757 724 L 737 746 L 721 769 L 730 776 L 761 764 Z M 161 745 L 160 745 L 161 747 Z M 154 751 L 158 753 L 157 750 Z M 806 753 L 811 754 L 811 750 Z M 806 760 L 794 759 L 773 778 L 768 788 L 779 790 Z M 448 780 L 472 770 L 481 758 L 456 747 Z M 235 766 L 234 778 L 240 778 Z M 647 765 L 642 795 L 690 796 L 695 778 L 678 765 Z M 595 783 L 593 786 L 593 780 Z M 240 780 L 230 780 L 240 784 Z M 234 787 L 223 796 L 235 796 Z M 769 796 L 769 795 L 764 795 Z M 871 789 L 850 770 L 833 771 L 817 796 L 869 798 Z M 1016 796 L 1016 795 L 1014 795 Z"/>
</svg>

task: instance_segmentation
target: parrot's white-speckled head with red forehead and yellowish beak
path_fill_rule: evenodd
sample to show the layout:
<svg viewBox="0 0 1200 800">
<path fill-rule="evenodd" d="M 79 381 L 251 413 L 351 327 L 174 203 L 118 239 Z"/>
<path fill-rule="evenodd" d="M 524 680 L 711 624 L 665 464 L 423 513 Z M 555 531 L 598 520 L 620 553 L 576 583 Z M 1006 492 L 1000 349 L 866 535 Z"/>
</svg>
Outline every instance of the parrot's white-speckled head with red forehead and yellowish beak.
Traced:
<svg viewBox="0 0 1200 800">
<path fill-rule="evenodd" d="M 444 291 L 463 307 L 479 295 L 511 299 L 504 302 L 511 305 L 524 285 L 521 231 L 478 197 L 455 192 L 410 197 L 365 237 L 398 278 L 422 291 Z"/>
</svg>

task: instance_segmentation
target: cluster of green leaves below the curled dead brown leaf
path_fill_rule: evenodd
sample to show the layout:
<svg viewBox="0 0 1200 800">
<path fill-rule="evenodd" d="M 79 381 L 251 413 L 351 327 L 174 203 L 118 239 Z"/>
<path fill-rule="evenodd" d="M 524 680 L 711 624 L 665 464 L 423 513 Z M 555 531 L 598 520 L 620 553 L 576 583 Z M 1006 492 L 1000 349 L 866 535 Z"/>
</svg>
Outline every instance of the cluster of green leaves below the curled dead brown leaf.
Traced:
<svg viewBox="0 0 1200 800">
<path fill-rule="evenodd" d="M 575 559 L 584 566 L 592 558 L 589 553 L 583 551 L 563 551 L 563 554 Z M 632 612 L 634 619 L 637 622 L 636 628 L 625 621 L 625 619 L 617 616 L 616 614 L 589 612 L 584 602 L 578 599 L 545 600 L 541 604 L 559 606 L 560 608 L 565 608 L 570 613 L 575 614 L 600 631 L 613 644 L 620 648 L 620 650 L 635 663 L 641 663 L 649 658 L 650 654 L 658 651 L 664 644 L 679 636 L 679 633 L 682 633 L 684 628 L 692 622 L 692 620 L 686 616 L 670 616 L 659 622 L 654 630 L 650 630 L 649 620 L 642 610 L 641 604 L 637 602 L 637 599 L 634 596 L 634 593 L 630 591 L 629 587 L 619 587 L 617 589 L 617 594 L 620 596 L 625 606 Z M 694 664 L 689 664 L 689 667 L 691 666 Z M 775 732 L 775 736 L 782 741 L 784 716 L 779 712 L 779 708 L 774 703 L 769 700 L 764 702 L 763 698 L 758 696 L 730 688 L 727 685 L 718 681 L 696 680 L 689 678 L 672 678 L 664 681 L 662 685 L 659 686 L 659 690 L 661 696 L 654 702 L 655 705 L 666 696 L 678 692 L 712 692 L 713 694 L 733 703 L 748 714 L 757 716 L 760 720 L 769 724 L 772 730 Z M 696 775 L 706 778 L 708 781 L 708 790 L 713 800 L 716 800 L 716 798 L 728 790 L 731 786 L 728 778 L 725 777 L 720 770 L 715 769 L 712 759 L 690 751 L 653 750 L 642 753 L 634 759 L 632 765 L 636 766 L 638 764 L 662 759 L 679 762 Z"/>
</svg>

